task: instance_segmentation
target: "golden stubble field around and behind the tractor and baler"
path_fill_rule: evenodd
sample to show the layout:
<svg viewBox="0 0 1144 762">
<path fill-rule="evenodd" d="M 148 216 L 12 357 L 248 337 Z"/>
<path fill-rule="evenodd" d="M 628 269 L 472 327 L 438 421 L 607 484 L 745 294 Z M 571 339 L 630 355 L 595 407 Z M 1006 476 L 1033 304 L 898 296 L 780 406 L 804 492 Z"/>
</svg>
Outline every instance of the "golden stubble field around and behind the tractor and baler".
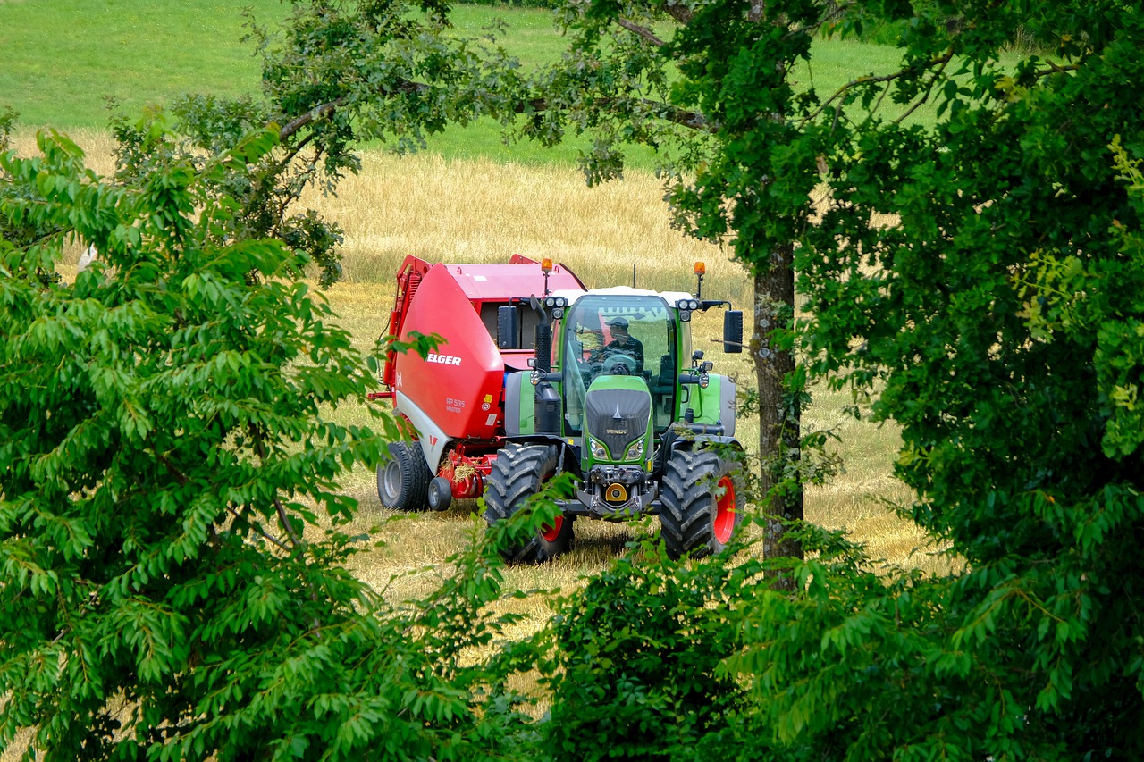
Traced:
<svg viewBox="0 0 1144 762">
<path fill-rule="evenodd" d="M 73 138 L 89 154 L 90 165 L 110 173 L 110 138 L 101 133 L 78 133 Z M 16 143 L 21 153 L 34 150 L 31 138 Z M 325 297 L 352 333 L 355 344 L 368 352 L 387 327 L 394 300 L 394 275 L 406 254 L 430 261 L 503 261 L 515 253 L 535 259 L 551 256 L 575 271 L 589 286 L 630 284 L 633 267 L 643 287 L 691 291 L 692 264 L 702 260 L 708 277 L 704 295 L 726 297 L 750 309 L 746 272 L 720 247 L 685 238 L 669 224 L 662 186 L 645 173 L 589 189 L 569 167 L 537 167 L 491 161 L 445 161 L 437 156 L 397 158 L 381 152 L 363 157 L 363 172 L 347 178 L 336 197 L 313 193 L 309 207 L 336 220 L 344 229 L 344 279 Z M 69 251 L 73 265 L 79 247 Z M 65 267 L 65 278 L 70 277 Z M 708 359 L 716 373 L 752 383 L 746 355 L 723 355 L 718 310 L 694 323 L 697 348 L 709 340 Z M 825 389 L 815 395 L 804 423 L 833 429 L 844 473 L 826 486 L 807 492 L 807 517 L 828 527 L 847 527 L 866 542 L 875 558 L 944 567 L 925 548 L 925 538 L 898 518 L 891 505 L 908 505 L 909 492 L 891 477 L 898 446 L 897 431 L 855 421 L 842 413 L 844 394 Z M 340 410 L 347 421 L 365 422 L 360 410 Z M 757 435 L 752 419 L 738 422 L 738 436 L 752 452 Z M 358 467 L 343 481 L 345 492 L 359 501 L 355 529 L 381 526 L 386 546 L 363 554 L 356 572 L 387 595 L 418 597 L 446 573 L 445 559 L 462 547 L 470 531 L 479 529 L 476 501 L 454 505 L 443 514 L 392 516 L 381 508 L 372 468 Z M 654 525 L 645 523 L 654 529 Z M 580 521 L 571 553 L 539 567 L 516 567 L 507 573 L 518 589 L 575 586 L 585 574 L 603 567 L 638 530 L 629 525 Z M 543 610 L 535 601 L 535 613 Z"/>
</svg>

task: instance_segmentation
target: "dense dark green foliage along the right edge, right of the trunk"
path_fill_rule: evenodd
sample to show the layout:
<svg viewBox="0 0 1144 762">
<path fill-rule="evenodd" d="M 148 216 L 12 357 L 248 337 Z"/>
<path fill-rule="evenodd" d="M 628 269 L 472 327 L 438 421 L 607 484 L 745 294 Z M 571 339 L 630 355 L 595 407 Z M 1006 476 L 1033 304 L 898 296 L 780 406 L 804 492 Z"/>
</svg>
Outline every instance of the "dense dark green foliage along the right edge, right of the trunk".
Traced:
<svg viewBox="0 0 1144 762">
<path fill-rule="evenodd" d="M 911 515 L 969 564 L 935 601 L 958 659 L 929 685 L 967 681 L 978 708 L 946 719 L 990 740 L 945 743 L 1138 756 L 1138 14 L 1052 2 L 939 23 L 914 17 L 896 82 L 937 100 L 937 128 L 844 122 L 826 157 L 829 204 L 799 259 L 817 370 L 901 426 Z M 1056 61 L 999 65 L 1018 25 Z M 940 724 L 914 722 L 934 743 Z"/>
</svg>

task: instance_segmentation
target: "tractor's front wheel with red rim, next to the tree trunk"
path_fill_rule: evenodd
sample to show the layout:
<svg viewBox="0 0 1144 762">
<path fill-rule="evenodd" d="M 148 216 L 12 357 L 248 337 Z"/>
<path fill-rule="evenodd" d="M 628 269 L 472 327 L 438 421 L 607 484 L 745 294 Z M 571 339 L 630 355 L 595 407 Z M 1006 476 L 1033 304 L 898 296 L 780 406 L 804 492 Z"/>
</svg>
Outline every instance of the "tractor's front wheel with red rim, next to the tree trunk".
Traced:
<svg viewBox="0 0 1144 762">
<path fill-rule="evenodd" d="M 676 450 L 664 469 L 660 533 L 673 558 L 722 553 L 746 505 L 741 466 L 712 450 Z"/>
</svg>

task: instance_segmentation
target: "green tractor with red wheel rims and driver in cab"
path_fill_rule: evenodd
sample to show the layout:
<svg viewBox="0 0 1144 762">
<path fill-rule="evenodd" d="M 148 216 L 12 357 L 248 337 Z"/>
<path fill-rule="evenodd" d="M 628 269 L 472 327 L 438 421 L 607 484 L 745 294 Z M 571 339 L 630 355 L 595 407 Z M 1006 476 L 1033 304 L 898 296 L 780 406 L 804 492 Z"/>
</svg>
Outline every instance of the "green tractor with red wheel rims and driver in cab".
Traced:
<svg viewBox="0 0 1144 762">
<path fill-rule="evenodd" d="M 514 562 L 565 551 L 575 518 L 658 515 L 673 557 L 720 553 L 739 526 L 746 498 L 742 447 L 734 438 L 736 386 L 713 374 L 692 347 L 691 317 L 713 307 L 697 295 L 614 287 L 531 296 L 501 307 L 498 343 L 521 346 L 535 325 L 531 371 L 505 380 L 505 446 L 485 479 L 485 519 L 521 510 L 559 474 L 574 494 L 561 515 L 521 547 Z M 742 312 L 726 310 L 723 350 L 742 348 Z"/>
</svg>

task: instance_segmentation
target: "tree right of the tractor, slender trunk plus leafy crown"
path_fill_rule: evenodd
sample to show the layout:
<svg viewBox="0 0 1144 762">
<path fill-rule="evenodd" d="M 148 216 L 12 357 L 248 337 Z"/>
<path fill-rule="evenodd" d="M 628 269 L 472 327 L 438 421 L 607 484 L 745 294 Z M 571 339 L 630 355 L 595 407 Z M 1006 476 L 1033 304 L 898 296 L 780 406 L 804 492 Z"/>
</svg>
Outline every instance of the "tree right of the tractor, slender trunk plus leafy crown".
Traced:
<svg viewBox="0 0 1144 762">
<path fill-rule="evenodd" d="M 561 16 L 569 49 L 535 84 L 542 100 L 524 109 L 525 136 L 593 136 L 589 183 L 620 176 L 625 143 L 659 149 L 677 225 L 728 241 L 754 279 L 768 557 L 802 556 L 786 532 L 803 518 L 808 399 L 793 346 L 793 245 L 815 212 L 821 137 L 805 120 L 813 95 L 796 93 L 791 71 L 827 18 L 821 3 L 803 0 L 570 2 Z"/>
</svg>

